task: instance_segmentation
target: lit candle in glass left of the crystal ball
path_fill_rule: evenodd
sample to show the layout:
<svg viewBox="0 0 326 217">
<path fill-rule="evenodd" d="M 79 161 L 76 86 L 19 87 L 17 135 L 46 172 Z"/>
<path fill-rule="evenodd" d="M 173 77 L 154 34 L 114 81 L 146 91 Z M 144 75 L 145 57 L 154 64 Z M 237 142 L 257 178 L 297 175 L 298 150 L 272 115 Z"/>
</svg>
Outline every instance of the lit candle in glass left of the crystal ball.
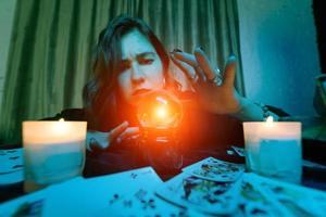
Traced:
<svg viewBox="0 0 326 217">
<path fill-rule="evenodd" d="M 25 190 L 82 175 L 86 122 L 23 122 Z"/>
</svg>

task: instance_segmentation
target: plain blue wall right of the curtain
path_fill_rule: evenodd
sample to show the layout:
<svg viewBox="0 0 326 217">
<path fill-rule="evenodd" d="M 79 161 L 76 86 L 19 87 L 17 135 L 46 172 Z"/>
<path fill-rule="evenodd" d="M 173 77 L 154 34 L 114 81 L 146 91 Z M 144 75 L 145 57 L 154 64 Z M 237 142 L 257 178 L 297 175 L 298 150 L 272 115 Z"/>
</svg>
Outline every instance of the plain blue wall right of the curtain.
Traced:
<svg viewBox="0 0 326 217">
<path fill-rule="evenodd" d="M 315 115 L 321 74 L 312 0 L 238 0 L 247 97 L 292 115 Z"/>
</svg>

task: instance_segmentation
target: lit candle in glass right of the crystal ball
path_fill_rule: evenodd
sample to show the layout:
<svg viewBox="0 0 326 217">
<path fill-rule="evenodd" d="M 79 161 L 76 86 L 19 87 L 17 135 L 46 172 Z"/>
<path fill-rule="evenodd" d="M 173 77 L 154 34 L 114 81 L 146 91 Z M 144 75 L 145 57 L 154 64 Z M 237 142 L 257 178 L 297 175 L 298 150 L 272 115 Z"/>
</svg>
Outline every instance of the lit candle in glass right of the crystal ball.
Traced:
<svg viewBox="0 0 326 217">
<path fill-rule="evenodd" d="M 299 183 L 302 175 L 301 123 L 243 123 L 249 170 Z"/>
</svg>

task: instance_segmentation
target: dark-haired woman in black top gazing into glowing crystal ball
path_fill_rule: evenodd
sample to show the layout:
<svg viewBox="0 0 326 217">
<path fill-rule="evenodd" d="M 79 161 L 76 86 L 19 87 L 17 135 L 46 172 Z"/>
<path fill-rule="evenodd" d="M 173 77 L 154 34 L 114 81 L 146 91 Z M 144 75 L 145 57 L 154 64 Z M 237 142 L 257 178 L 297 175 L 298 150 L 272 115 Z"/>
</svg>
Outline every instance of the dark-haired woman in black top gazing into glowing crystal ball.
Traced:
<svg viewBox="0 0 326 217">
<path fill-rule="evenodd" d="M 180 92 L 180 85 L 168 73 L 170 59 L 191 84 L 193 91 L 190 94 L 189 91 Z M 272 113 L 238 94 L 234 88 L 235 74 L 236 59 L 233 55 L 224 71 L 214 68 L 200 48 L 193 54 L 174 50 L 168 56 L 143 21 L 128 16 L 112 20 L 99 35 L 93 78 L 84 89 L 89 126 L 88 159 L 117 161 L 116 165 L 123 165 L 120 169 L 139 166 L 138 159 L 138 163 L 131 161 L 128 165 L 126 158 L 133 157 L 116 153 L 117 150 L 137 152 L 134 144 L 140 131 L 135 118 L 135 104 L 142 94 L 160 89 L 173 91 L 180 99 L 186 95 L 186 101 L 191 99 L 196 102 L 196 106 L 186 107 L 184 119 L 187 119 L 188 131 L 184 131 L 185 150 L 210 150 L 208 146 L 216 150 L 243 143 L 240 120 L 263 120 Z M 90 165 L 88 167 L 97 167 Z M 91 169 L 91 174 L 110 173 L 110 169 Z"/>
</svg>

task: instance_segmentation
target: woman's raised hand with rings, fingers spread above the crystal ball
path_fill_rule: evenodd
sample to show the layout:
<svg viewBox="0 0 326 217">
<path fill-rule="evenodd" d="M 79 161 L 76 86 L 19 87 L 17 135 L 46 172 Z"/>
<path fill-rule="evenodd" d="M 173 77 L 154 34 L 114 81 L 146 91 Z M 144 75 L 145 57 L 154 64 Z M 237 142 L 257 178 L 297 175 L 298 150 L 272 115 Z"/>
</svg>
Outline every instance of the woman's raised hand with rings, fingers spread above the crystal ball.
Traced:
<svg viewBox="0 0 326 217">
<path fill-rule="evenodd" d="M 242 97 L 236 91 L 236 58 L 228 58 L 223 72 L 214 68 L 202 49 L 193 54 L 174 51 L 172 61 L 185 73 L 196 90 L 199 103 L 208 112 L 231 114 L 240 110 Z"/>
</svg>

